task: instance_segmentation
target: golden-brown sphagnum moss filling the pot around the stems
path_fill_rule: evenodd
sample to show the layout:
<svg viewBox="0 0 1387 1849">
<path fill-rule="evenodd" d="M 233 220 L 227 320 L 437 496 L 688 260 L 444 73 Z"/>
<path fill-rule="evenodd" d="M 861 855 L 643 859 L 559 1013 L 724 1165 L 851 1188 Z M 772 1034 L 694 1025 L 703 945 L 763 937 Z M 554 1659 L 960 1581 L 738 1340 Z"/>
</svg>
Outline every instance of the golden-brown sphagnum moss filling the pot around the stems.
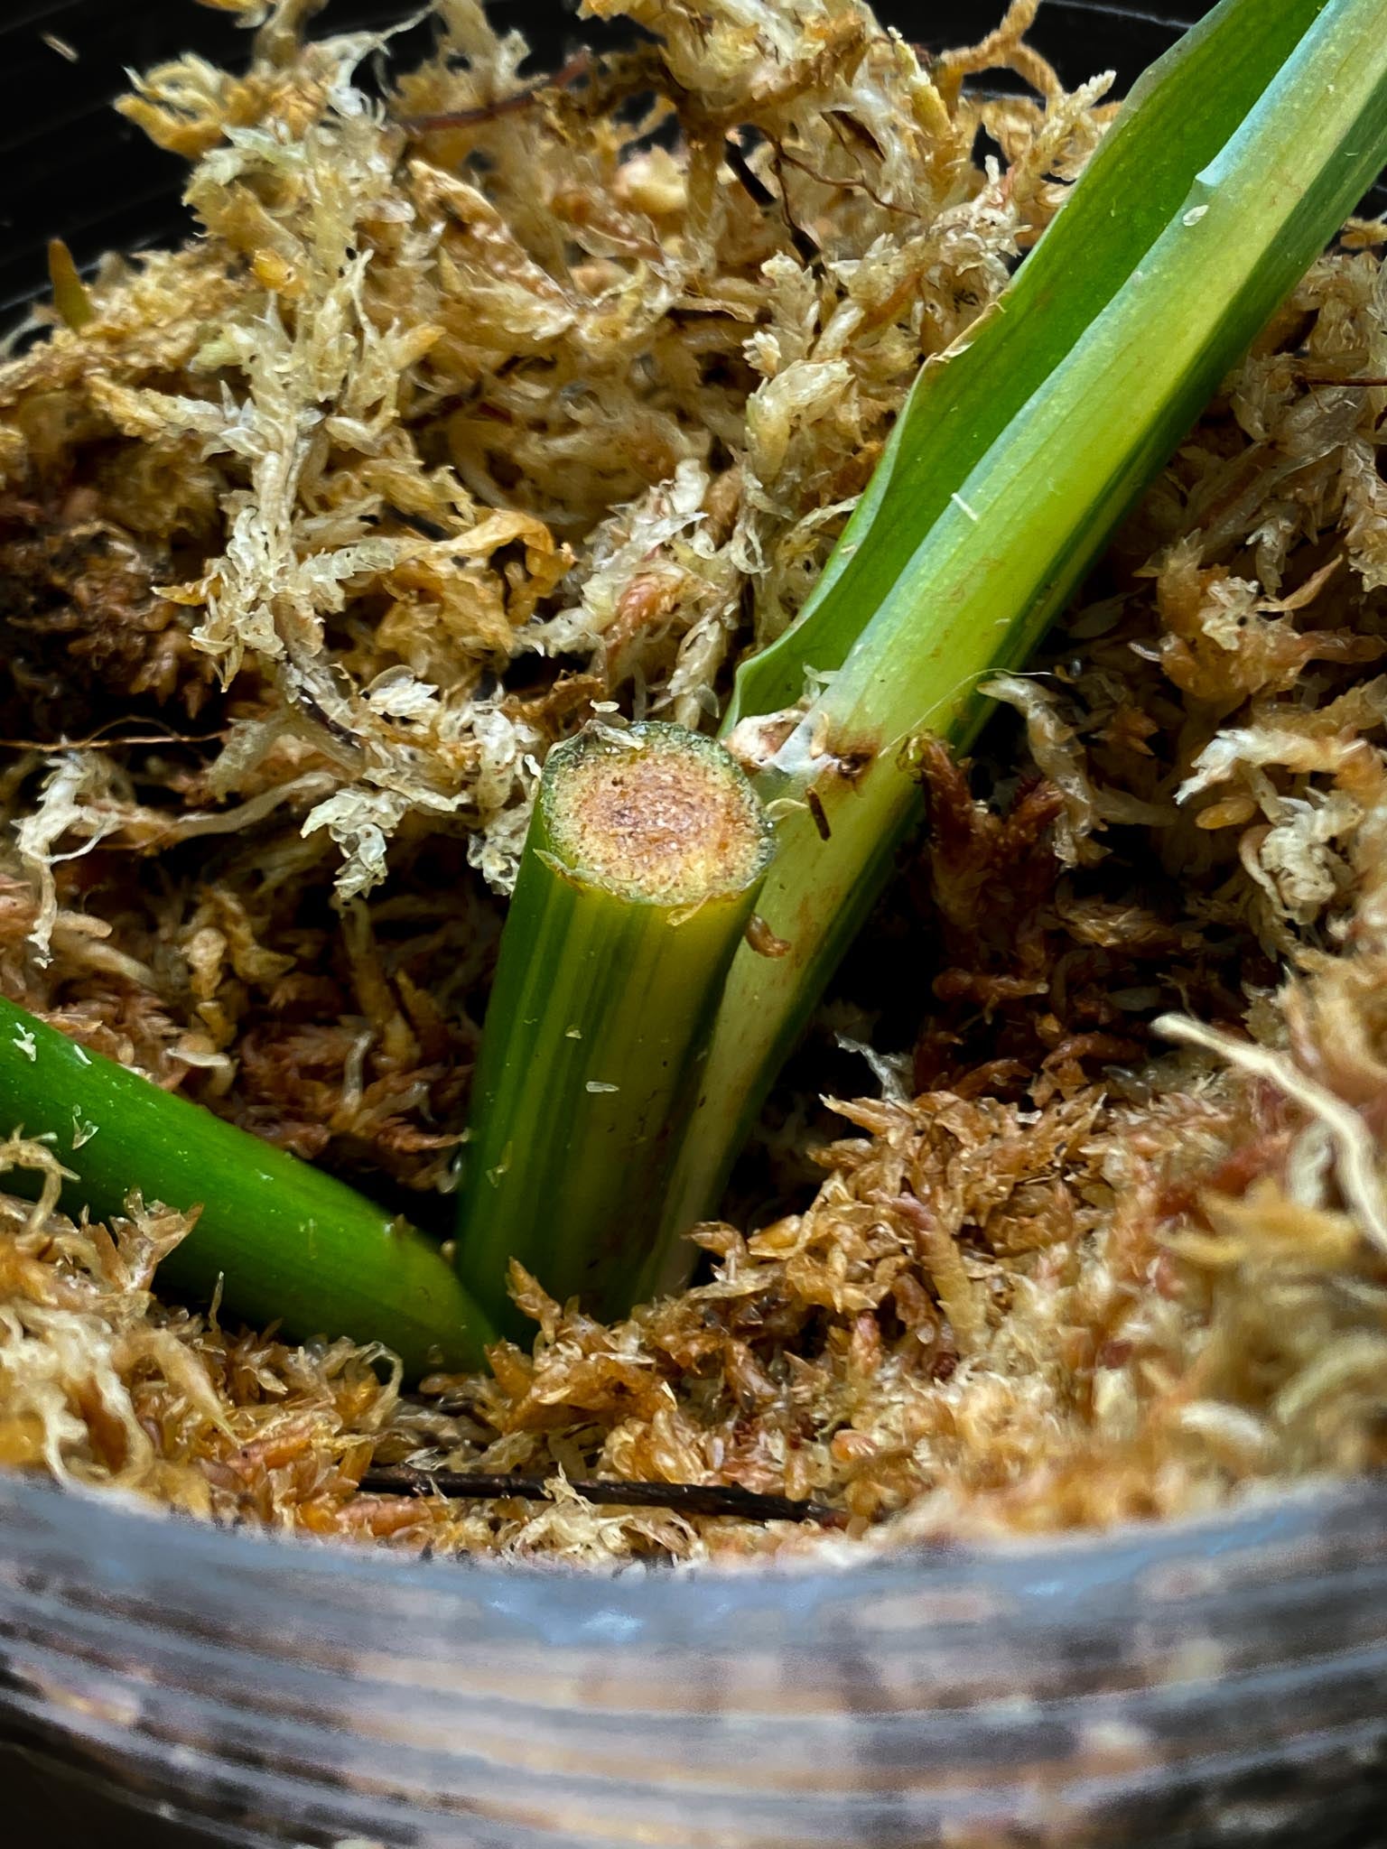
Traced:
<svg viewBox="0 0 1387 1849">
<path fill-rule="evenodd" d="M 751 39 L 631 11 L 658 44 L 534 85 L 444 4 L 385 122 L 283 22 L 246 78 L 152 74 L 205 235 L 0 368 L 4 991 L 425 1217 L 536 764 L 608 701 L 712 723 L 1104 120 L 1028 6 L 928 70 L 849 0 Z M 989 63 L 1034 96 L 971 102 Z M 706 1280 L 616 1328 L 518 1276 L 533 1344 L 405 1400 L 161 1304 L 181 1222 L 0 1196 L 0 1461 L 583 1562 L 819 1542 L 357 1483 L 729 1481 L 895 1546 L 1387 1463 L 1380 242 L 1304 279 L 976 762 L 925 749 L 927 839 L 827 1017 L 864 1041 L 865 998 L 897 1052 L 795 1211 L 701 1228 Z M 1221 1052 L 1161 1037 L 1180 1010 Z M 792 1182 L 843 1072 L 812 1043 L 762 1126 Z"/>
</svg>

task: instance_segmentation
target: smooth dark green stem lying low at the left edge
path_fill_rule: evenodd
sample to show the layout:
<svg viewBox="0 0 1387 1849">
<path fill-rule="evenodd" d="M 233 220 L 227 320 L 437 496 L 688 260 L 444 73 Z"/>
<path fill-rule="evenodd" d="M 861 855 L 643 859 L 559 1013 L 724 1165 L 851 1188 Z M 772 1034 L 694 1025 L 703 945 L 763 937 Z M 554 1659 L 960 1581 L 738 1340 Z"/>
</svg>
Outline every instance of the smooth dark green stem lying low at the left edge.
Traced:
<svg viewBox="0 0 1387 1849">
<path fill-rule="evenodd" d="M 70 1213 L 111 1220 L 133 1191 L 200 1209 L 159 1267 L 161 1283 L 200 1304 L 220 1285 L 226 1309 L 257 1328 L 383 1342 L 411 1379 L 479 1368 L 496 1339 L 416 1228 L 4 998 L 0 1126 L 48 1143 L 72 1170 Z M 6 1185 L 20 1183 L 11 1170 Z"/>
</svg>

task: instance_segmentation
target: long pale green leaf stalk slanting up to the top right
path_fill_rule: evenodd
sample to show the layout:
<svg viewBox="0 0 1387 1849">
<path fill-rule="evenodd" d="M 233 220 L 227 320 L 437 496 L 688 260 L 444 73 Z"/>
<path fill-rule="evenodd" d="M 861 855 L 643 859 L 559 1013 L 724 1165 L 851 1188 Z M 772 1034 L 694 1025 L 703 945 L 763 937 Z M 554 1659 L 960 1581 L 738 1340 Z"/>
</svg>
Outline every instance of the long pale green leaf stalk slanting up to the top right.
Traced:
<svg viewBox="0 0 1387 1849">
<path fill-rule="evenodd" d="M 910 741 L 969 743 L 988 671 L 1026 658 L 1383 161 L 1381 0 L 1224 0 L 1143 80 L 999 312 L 921 373 L 814 608 L 740 675 L 732 717 L 836 669 L 762 729 L 782 819 L 760 912 L 790 954 L 729 974 L 662 1285 L 921 814 Z"/>
</svg>

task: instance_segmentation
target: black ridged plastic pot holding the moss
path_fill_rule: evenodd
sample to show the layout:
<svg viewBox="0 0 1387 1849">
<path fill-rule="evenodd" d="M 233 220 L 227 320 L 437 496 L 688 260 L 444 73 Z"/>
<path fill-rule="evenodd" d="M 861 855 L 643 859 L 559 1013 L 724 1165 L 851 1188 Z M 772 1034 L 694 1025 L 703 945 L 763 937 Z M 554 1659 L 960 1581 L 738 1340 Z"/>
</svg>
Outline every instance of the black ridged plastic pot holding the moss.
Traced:
<svg viewBox="0 0 1387 1849">
<path fill-rule="evenodd" d="M 547 59 L 583 30 L 512 11 Z M 1000 6 L 884 11 L 941 44 Z M 1078 0 L 1036 31 L 1071 78 L 1123 81 L 1171 37 Z M 52 233 L 80 261 L 178 235 L 176 165 L 107 102 L 122 65 L 233 43 L 183 0 L 9 0 L 0 301 L 43 287 Z M 15 1849 L 1380 1849 L 1387 1487 L 603 1579 L 218 1533 L 0 1476 L 0 1775 Z"/>
</svg>

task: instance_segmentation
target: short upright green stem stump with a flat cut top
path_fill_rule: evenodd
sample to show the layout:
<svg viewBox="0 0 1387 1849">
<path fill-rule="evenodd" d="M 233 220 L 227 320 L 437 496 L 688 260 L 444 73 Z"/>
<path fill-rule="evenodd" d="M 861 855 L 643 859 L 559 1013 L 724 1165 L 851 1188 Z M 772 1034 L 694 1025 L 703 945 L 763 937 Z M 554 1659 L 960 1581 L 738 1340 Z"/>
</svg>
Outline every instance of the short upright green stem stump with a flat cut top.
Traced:
<svg viewBox="0 0 1387 1849">
<path fill-rule="evenodd" d="M 510 1328 L 509 1261 L 616 1315 L 642 1291 L 671 1132 L 773 851 L 721 745 L 597 725 L 544 767 L 501 937 L 457 1265 Z"/>
</svg>

